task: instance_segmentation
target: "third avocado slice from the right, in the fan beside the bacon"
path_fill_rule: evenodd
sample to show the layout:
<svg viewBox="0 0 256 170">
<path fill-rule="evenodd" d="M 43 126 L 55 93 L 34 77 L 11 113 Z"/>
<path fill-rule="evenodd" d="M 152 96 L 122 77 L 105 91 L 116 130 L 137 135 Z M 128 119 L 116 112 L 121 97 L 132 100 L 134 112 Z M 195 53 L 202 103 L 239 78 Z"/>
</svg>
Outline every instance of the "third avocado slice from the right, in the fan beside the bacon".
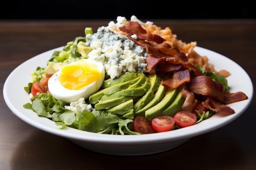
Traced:
<svg viewBox="0 0 256 170">
<path fill-rule="evenodd" d="M 166 91 L 167 91 L 167 88 L 165 86 L 163 86 L 162 84 L 160 84 L 157 91 L 155 92 L 154 98 L 150 102 L 148 102 L 148 104 L 146 104 L 146 106 L 144 106 L 140 110 L 135 111 L 135 116 L 136 115 L 145 115 L 146 110 L 155 106 L 164 98 Z"/>
</svg>

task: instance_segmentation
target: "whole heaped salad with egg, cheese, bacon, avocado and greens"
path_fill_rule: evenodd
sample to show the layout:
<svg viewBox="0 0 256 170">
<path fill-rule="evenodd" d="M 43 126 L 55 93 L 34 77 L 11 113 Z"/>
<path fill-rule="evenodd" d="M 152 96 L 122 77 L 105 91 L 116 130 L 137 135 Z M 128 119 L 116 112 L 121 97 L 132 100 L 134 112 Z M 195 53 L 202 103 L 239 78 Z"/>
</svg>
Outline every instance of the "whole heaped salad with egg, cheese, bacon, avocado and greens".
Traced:
<svg viewBox="0 0 256 170">
<path fill-rule="evenodd" d="M 196 42 L 177 40 L 169 27 L 161 29 L 134 15 L 129 21 L 118 16 L 116 23 L 110 21 L 95 33 L 85 28 L 85 36 L 67 42 L 63 50 L 54 51 L 45 67 L 32 71 L 24 88 L 31 103 L 23 107 L 60 129 L 112 135 L 166 132 L 193 126 L 217 112 L 234 114 L 227 104 L 248 97 L 230 93 L 226 79 L 230 73 L 214 70 L 207 56 L 194 51 L 195 46 Z M 74 64 L 89 59 L 103 65 L 103 81 L 94 82 L 88 73 L 92 69 Z M 91 67 L 97 72 L 96 65 Z M 78 89 L 58 88 L 64 68 L 62 79 L 74 87 L 79 84 Z M 90 90 L 81 86 L 87 81 Z M 58 86 L 51 93 L 48 84 L 55 86 L 55 82 Z M 77 100 L 74 95 L 81 96 L 80 91 L 90 93 L 89 97 Z"/>
</svg>

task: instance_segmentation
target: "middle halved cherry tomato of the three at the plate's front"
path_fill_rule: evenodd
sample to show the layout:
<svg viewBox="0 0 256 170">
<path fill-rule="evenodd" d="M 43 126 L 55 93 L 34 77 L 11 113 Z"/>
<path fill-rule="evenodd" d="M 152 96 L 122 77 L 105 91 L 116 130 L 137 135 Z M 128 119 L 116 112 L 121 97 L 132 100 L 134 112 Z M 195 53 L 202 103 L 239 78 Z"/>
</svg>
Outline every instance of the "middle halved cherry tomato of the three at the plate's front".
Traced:
<svg viewBox="0 0 256 170">
<path fill-rule="evenodd" d="M 159 116 L 152 119 L 152 126 L 157 132 L 166 132 L 173 128 L 175 120 L 171 116 Z"/>
</svg>

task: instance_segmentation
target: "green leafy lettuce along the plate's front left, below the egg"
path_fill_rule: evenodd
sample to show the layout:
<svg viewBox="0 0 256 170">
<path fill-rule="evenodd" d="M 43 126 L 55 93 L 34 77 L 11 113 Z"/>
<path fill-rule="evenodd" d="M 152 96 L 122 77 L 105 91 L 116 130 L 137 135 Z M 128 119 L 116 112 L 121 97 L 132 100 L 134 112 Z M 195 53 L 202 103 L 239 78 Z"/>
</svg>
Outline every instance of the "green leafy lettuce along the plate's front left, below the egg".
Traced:
<svg viewBox="0 0 256 170">
<path fill-rule="evenodd" d="M 132 119 L 122 119 L 119 115 L 108 113 L 106 110 L 92 110 L 92 112 L 76 113 L 65 108 L 65 102 L 56 100 L 51 93 L 40 93 L 34 97 L 32 103 L 26 103 L 28 108 L 37 113 L 40 117 L 46 117 L 55 121 L 55 124 L 76 128 L 88 132 L 97 132 L 115 135 L 140 135 L 133 131 Z"/>
</svg>

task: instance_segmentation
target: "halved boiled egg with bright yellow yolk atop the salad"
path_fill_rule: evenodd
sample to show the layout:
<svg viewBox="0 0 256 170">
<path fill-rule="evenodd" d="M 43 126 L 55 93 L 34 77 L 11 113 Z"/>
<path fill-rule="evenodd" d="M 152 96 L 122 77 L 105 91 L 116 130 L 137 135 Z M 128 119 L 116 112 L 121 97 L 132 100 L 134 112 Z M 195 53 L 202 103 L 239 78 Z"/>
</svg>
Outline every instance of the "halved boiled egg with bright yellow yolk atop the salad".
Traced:
<svg viewBox="0 0 256 170">
<path fill-rule="evenodd" d="M 101 62 L 91 59 L 67 64 L 48 80 L 49 92 L 57 100 L 70 103 L 81 97 L 87 99 L 101 87 L 105 69 Z"/>
</svg>

